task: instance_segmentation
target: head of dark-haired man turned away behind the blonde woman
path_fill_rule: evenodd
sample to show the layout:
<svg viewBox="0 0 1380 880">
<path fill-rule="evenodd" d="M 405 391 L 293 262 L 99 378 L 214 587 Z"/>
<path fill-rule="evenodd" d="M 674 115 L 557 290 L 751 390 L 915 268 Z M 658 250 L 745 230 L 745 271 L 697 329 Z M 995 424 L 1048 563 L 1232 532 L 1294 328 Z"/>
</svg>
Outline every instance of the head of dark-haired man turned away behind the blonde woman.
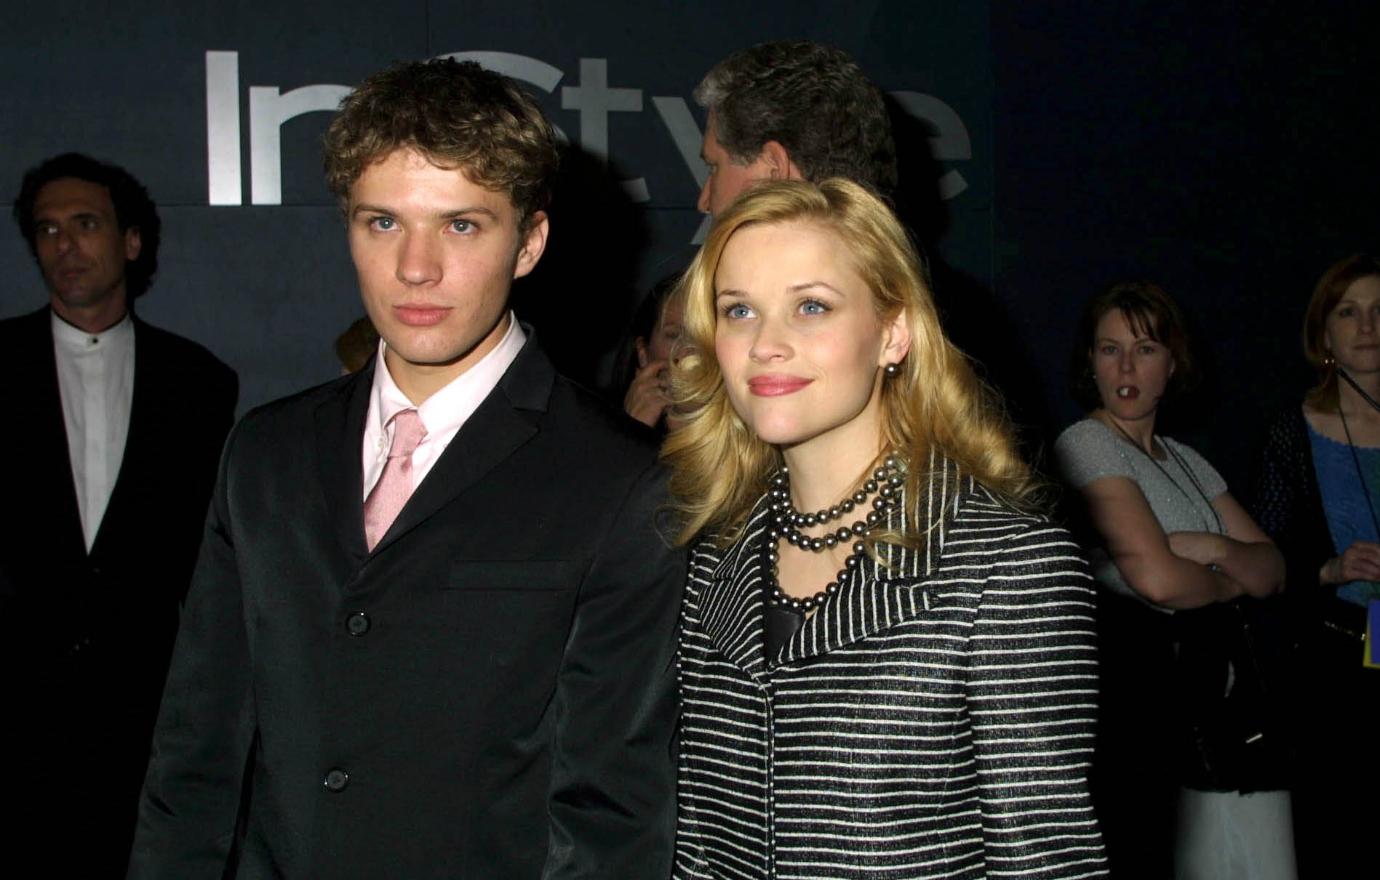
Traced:
<svg viewBox="0 0 1380 880">
<path fill-rule="evenodd" d="M 842 177 L 889 196 L 896 143 L 880 90 L 847 52 L 810 40 L 762 43 L 694 90 L 709 112 L 698 207 L 718 214 L 753 181 Z"/>
</svg>

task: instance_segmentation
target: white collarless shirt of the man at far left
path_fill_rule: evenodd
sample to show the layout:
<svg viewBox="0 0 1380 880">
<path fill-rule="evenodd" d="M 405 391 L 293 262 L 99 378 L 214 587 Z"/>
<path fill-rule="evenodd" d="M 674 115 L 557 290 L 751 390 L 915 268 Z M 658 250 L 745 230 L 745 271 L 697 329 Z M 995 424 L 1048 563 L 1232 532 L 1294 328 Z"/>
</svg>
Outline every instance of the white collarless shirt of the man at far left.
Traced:
<svg viewBox="0 0 1380 880">
<path fill-rule="evenodd" d="M 110 503 L 110 491 L 124 461 L 124 443 L 130 437 L 134 321 L 126 313 L 115 327 L 91 334 L 54 312 L 52 350 L 58 361 L 72 483 L 90 550 Z"/>
</svg>

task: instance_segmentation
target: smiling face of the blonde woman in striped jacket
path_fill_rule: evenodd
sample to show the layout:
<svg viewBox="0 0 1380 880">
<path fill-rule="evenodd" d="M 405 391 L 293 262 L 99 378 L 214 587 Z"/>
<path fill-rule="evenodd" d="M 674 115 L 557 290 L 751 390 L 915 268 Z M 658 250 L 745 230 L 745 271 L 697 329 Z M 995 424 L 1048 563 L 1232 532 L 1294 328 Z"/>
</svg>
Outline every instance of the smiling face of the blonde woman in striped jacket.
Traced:
<svg viewBox="0 0 1380 880">
<path fill-rule="evenodd" d="M 723 250 L 715 291 L 715 356 L 748 428 L 777 446 L 825 437 L 871 454 L 893 331 L 843 243 L 814 225 L 745 226 Z"/>
</svg>

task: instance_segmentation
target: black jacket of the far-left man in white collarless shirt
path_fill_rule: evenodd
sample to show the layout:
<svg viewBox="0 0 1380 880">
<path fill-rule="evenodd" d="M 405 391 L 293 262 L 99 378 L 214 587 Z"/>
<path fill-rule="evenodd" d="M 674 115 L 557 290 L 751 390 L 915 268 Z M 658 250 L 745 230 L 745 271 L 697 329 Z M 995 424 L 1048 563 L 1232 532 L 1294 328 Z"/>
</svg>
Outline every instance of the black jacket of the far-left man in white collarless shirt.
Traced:
<svg viewBox="0 0 1380 880">
<path fill-rule="evenodd" d="M 34 854 L 54 876 L 119 876 L 236 378 L 135 319 L 130 432 L 88 553 L 48 309 L 0 321 L 0 352 L 14 364 L 0 430 L 4 754 L 11 803 L 25 804 L 7 832 L 80 832 L 80 847 Z"/>
</svg>

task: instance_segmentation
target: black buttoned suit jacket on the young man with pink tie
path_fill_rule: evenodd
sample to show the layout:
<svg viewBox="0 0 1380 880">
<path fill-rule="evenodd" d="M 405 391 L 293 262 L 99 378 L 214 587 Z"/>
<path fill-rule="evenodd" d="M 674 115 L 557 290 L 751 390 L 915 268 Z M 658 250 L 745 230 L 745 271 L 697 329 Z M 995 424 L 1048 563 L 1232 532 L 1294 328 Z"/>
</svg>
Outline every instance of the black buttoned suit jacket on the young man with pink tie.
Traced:
<svg viewBox="0 0 1380 880">
<path fill-rule="evenodd" d="M 621 414 L 529 342 L 374 552 L 373 368 L 246 417 L 130 877 L 665 877 L 684 560 Z"/>
</svg>

